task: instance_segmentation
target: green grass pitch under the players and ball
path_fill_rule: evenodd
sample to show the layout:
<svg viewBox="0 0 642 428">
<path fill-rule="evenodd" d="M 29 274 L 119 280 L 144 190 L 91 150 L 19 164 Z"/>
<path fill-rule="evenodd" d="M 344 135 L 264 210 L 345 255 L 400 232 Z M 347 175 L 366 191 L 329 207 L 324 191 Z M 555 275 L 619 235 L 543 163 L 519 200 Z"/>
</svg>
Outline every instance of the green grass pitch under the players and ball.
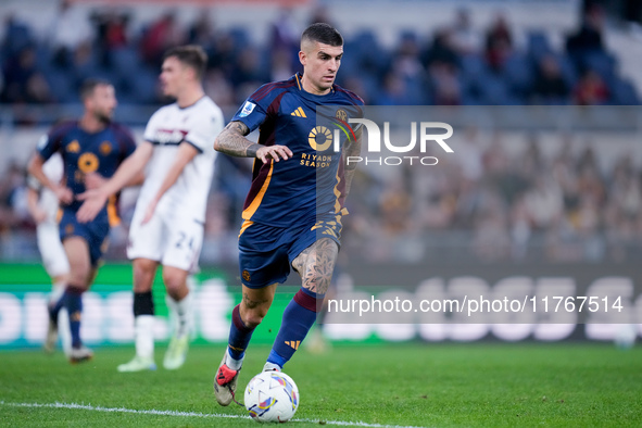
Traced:
<svg viewBox="0 0 642 428">
<path fill-rule="evenodd" d="M 156 350 L 158 363 L 163 352 Z M 178 372 L 119 374 L 129 347 L 98 348 L 93 361 L 77 366 L 61 352 L 0 351 L 0 426 L 257 426 L 240 406 L 214 401 L 222 352 L 192 347 Z M 250 347 L 241 398 L 267 353 Z M 335 344 L 323 354 L 302 349 L 286 368 L 301 394 L 294 427 L 642 426 L 640 347 Z"/>
</svg>

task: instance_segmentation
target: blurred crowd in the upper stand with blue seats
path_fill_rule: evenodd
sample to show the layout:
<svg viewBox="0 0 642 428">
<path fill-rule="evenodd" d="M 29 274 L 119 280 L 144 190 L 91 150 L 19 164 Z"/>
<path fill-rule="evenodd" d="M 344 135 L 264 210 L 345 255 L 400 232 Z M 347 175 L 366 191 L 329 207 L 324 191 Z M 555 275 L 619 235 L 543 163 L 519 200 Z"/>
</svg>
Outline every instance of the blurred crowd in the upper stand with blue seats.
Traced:
<svg viewBox="0 0 642 428">
<path fill-rule="evenodd" d="M 338 83 L 378 105 L 638 104 L 635 88 L 618 75 L 618 60 L 605 48 L 603 9 L 587 4 L 579 27 L 564 35 L 565 46 L 557 49 L 545 30 L 516 30 L 501 12 L 479 28 L 460 9 L 451 23 L 421 34 L 403 32 L 389 48 L 376 28 L 361 30 L 347 38 Z M 130 27 L 130 13 L 109 8 L 79 13 L 64 0 L 46 37 L 8 17 L 0 102 L 74 102 L 80 80 L 101 76 L 115 84 L 122 103 L 159 103 L 163 52 L 182 43 L 207 51 L 206 90 L 223 106 L 238 105 L 259 85 L 300 70 L 302 26 L 290 10 L 272 23 L 262 45 L 248 28 L 218 28 L 212 10 L 189 24 L 167 10 L 140 29 Z M 309 21 L 332 22 L 325 9 Z"/>
</svg>

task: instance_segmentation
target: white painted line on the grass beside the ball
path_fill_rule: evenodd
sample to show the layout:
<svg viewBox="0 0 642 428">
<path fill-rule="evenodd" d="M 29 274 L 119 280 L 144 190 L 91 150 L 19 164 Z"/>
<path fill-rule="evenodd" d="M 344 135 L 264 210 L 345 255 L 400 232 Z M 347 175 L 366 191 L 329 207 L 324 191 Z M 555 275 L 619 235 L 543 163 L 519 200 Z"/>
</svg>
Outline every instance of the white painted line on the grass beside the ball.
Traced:
<svg viewBox="0 0 642 428">
<path fill-rule="evenodd" d="M 177 412 L 177 411 L 137 411 L 135 408 L 126 407 L 102 407 L 90 404 L 77 404 L 77 403 L 8 403 L 0 401 L 0 405 L 11 407 L 47 407 L 47 408 L 68 408 L 68 410 L 81 410 L 90 412 L 105 412 L 105 413 L 134 413 L 138 415 L 158 415 L 158 416 L 182 416 L 182 417 L 204 417 L 204 418 L 224 418 L 224 419 L 251 419 L 249 415 L 227 415 L 224 413 L 199 413 L 199 412 Z M 313 423 L 319 424 L 319 420 L 314 419 L 291 419 L 291 421 Z M 366 428 L 417 428 L 399 425 L 381 425 L 381 424 L 366 424 L 366 423 L 352 423 L 342 420 L 325 420 L 326 425 L 336 425 L 340 427 L 366 427 Z"/>
</svg>

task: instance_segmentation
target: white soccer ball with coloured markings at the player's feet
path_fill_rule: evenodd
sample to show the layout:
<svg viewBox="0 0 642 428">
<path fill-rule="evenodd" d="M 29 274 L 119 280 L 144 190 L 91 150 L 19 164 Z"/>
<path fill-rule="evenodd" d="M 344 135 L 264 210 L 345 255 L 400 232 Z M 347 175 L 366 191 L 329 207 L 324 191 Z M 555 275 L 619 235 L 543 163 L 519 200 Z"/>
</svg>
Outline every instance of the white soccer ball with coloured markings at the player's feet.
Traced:
<svg viewBox="0 0 642 428">
<path fill-rule="evenodd" d="M 291 377 L 281 372 L 263 372 L 246 388 L 246 408 L 260 423 L 285 423 L 299 407 L 299 389 Z"/>
</svg>

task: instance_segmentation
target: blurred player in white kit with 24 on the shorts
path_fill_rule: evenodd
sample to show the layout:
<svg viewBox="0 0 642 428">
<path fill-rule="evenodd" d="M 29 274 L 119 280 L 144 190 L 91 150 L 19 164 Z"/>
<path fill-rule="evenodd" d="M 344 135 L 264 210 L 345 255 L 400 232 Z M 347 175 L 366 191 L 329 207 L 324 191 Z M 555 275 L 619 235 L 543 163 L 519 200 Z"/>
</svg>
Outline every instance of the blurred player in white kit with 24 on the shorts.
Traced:
<svg viewBox="0 0 642 428">
<path fill-rule="evenodd" d="M 129 229 L 127 256 L 134 261 L 136 355 L 118 372 L 156 368 L 152 284 L 160 265 L 167 303 L 177 324 L 163 366 L 185 363 L 191 316 L 188 276 L 198 269 L 205 209 L 214 174 L 214 139 L 223 130 L 221 109 L 205 96 L 201 79 L 207 58 L 198 46 L 165 53 L 161 71 L 164 95 L 176 102 L 159 109 L 147 124 L 144 141 L 103 186 L 80 196 L 80 222 L 91 221 L 111 194 L 147 166 Z"/>
</svg>

